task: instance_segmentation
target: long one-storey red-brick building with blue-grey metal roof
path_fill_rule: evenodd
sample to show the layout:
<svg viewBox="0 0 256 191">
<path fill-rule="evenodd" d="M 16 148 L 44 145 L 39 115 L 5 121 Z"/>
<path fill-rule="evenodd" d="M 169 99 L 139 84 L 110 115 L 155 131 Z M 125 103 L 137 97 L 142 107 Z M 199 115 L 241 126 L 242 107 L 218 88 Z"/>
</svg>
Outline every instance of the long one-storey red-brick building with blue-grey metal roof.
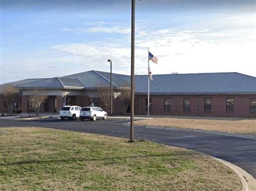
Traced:
<svg viewBox="0 0 256 191">
<path fill-rule="evenodd" d="M 147 114 L 147 75 L 136 75 L 135 114 Z M 113 74 L 113 91 L 130 88 L 130 76 Z M 58 112 L 63 105 L 99 105 L 97 88 L 110 87 L 110 73 L 91 70 L 49 79 L 10 83 L 21 90 L 16 110 L 32 112 L 28 89 L 45 89 L 41 111 Z M 5 84 L 0 86 L 3 87 Z M 105 108 L 107 110 L 107 108 Z M 0 112 L 6 110 L 0 96 Z M 113 114 L 124 114 L 124 103 L 113 100 Z M 129 112 L 127 108 L 126 112 Z M 150 84 L 150 114 L 256 117 L 256 77 L 240 73 L 154 75 Z"/>
</svg>

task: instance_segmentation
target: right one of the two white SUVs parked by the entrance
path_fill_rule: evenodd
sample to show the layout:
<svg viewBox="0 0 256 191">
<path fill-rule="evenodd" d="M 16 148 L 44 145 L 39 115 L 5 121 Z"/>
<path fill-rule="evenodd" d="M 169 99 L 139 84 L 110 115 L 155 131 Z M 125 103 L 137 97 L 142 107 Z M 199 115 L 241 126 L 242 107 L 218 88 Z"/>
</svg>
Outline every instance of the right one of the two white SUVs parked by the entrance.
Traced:
<svg viewBox="0 0 256 191">
<path fill-rule="evenodd" d="M 81 121 L 84 121 L 84 119 L 92 119 L 92 121 L 96 121 L 97 118 L 103 118 L 106 120 L 107 112 L 103 111 L 103 109 L 99 107 L 85 107 L 80 111 Z"/>
</svg>

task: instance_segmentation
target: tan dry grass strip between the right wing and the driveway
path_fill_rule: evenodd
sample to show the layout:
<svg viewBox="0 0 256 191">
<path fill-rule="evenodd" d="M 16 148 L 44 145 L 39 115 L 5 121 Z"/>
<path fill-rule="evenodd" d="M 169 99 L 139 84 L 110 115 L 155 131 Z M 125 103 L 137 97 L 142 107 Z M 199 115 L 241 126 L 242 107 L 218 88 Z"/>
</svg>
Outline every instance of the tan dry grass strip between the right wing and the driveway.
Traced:
<svg viewBox="0 0 256 191">
<path fill-rule="evenodd" d="M 169 126 L 256 135 L 256 119 L 218 120 L 186 118 L 153 118 L 136 121 L 137 125 Z"/>
</svg>

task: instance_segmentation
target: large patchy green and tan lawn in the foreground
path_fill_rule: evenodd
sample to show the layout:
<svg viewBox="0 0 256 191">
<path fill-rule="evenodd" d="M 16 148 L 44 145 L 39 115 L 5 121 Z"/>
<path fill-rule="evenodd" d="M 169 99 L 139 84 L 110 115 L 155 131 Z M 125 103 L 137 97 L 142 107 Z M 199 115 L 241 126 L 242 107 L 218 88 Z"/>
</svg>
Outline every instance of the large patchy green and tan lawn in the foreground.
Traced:
<svg viewBox="0 0 256 191">
<path fill-rule="evenodd" d="M 1 131 L 4 190 L 241 190 L 230 168 L 190 150 L 44 128 Z"/>
</svg>

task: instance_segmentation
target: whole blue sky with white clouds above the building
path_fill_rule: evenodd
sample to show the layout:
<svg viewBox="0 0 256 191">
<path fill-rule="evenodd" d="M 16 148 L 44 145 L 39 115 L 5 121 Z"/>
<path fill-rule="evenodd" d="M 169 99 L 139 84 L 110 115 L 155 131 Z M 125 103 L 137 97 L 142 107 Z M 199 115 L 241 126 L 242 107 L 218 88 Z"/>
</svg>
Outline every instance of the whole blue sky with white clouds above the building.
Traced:
<svg viewBox="0 0 256 191">
<path fill-rule="evenodd" d="M 1 0 L 0 84 L 87 70 L 130 74 L 131 1 Z M 135 73 L 256 76 L 254 0 L 136 0 Z"/>
</svg>

